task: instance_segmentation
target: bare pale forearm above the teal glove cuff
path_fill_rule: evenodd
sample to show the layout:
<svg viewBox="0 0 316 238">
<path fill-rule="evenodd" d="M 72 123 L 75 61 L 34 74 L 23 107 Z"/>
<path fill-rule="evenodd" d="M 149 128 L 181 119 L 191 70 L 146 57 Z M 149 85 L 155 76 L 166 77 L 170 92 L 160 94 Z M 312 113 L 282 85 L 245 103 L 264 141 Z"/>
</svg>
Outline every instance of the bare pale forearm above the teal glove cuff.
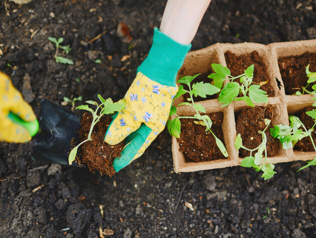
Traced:
<svg viewBox="0 0 316 238">
<path fill-rule="evenodd" d="M 211 0 L 168 0 L 160 31 L 187 45 L 193 40 Z"/>
</svg>

